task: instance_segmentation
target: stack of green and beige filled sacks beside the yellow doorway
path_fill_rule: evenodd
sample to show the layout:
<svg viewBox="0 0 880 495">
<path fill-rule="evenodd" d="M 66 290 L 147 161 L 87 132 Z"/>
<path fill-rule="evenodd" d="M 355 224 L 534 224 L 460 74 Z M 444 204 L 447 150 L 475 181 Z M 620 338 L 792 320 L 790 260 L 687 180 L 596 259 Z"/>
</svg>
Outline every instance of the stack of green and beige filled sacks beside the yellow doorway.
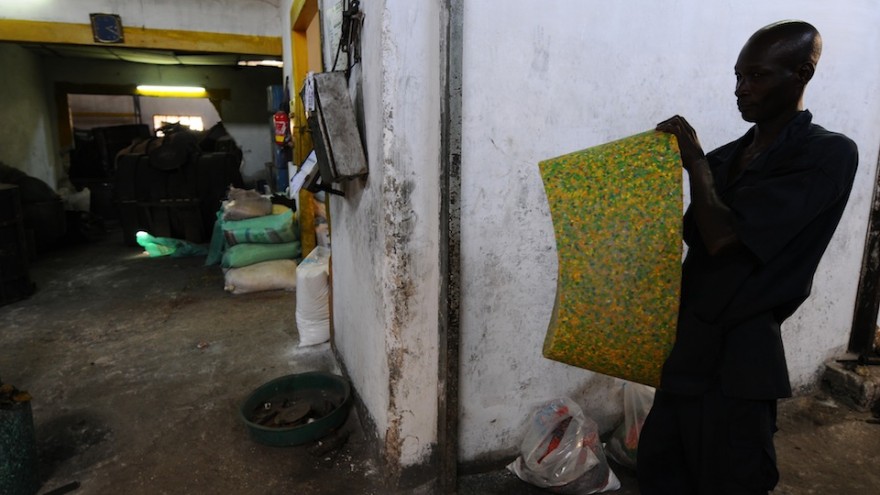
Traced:
<svg viewBox="0 0 880 495">
<path fill-rule="evenodd" d="M 230 188 L 217 213 L 206 265 L 219 263 L 233 294 L 296 289 L 301 247 L 293 211 L 256 191 Z"/>
</svg>

